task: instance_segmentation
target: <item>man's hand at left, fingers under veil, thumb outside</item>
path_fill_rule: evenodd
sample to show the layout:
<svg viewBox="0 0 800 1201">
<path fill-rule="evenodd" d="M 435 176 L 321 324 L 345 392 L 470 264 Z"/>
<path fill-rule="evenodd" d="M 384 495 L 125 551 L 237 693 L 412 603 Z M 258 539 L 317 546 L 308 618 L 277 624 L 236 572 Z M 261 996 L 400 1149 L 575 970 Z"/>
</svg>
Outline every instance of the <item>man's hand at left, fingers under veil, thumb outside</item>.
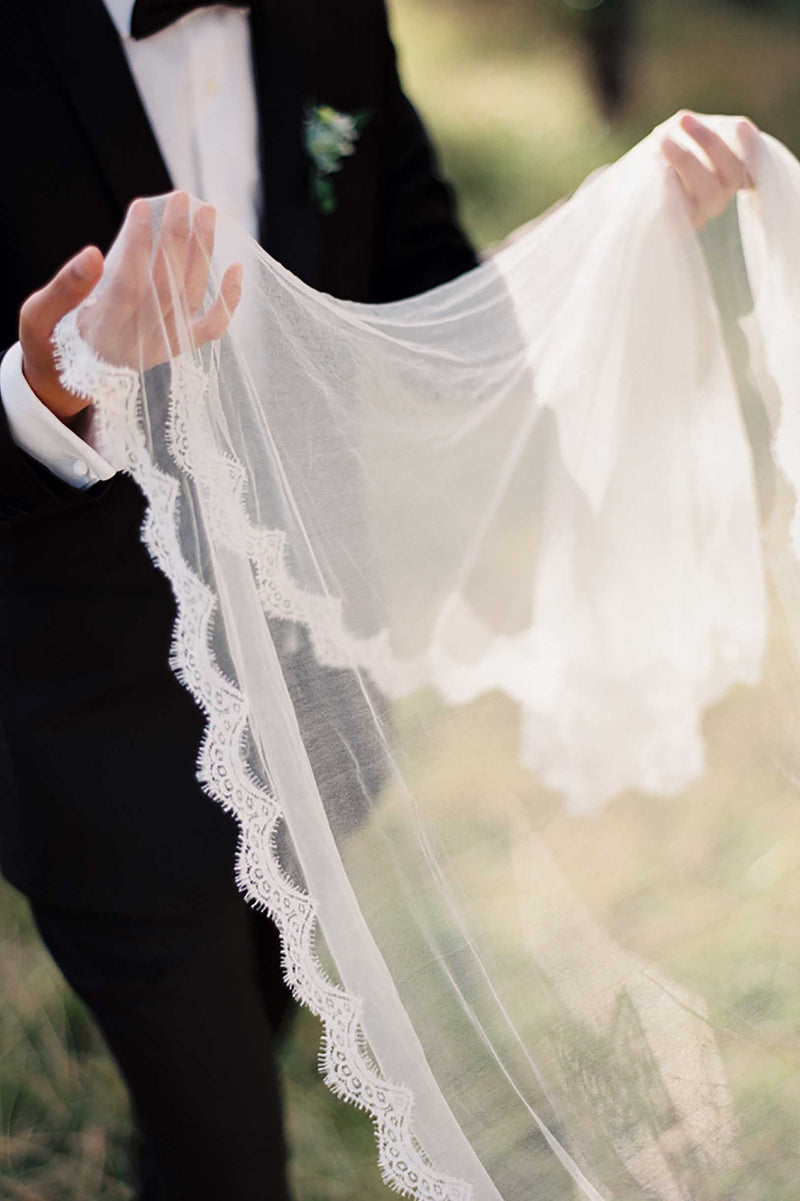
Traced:
<svg viewBox="0 0 800 1201">
<path fill-rule="evenodd" d="M 189 195 L 172 192 L 153 256 L 150 201 L 131 204 L 108 286 L 79 318 L 80 334 L 96 354 L 117 365 L 147 370 L 186 348 L 179 341 L 181 328 L 195 346 L 222 336 L 241 298 L 241 265 L 228 267 L 216 298 L 202 312 L 215 223 L 210 204 L 199 205 L 192 216 Z M 29 297 L 19 312 L 23 374 L 40 400 L 62 422 L 72 420 L 90 401 L 62 387 L 54 360 L 53 330 L 61 317 L 89 297 L 105 267 L 100 250 L 86 246 Z"/>
</svg>

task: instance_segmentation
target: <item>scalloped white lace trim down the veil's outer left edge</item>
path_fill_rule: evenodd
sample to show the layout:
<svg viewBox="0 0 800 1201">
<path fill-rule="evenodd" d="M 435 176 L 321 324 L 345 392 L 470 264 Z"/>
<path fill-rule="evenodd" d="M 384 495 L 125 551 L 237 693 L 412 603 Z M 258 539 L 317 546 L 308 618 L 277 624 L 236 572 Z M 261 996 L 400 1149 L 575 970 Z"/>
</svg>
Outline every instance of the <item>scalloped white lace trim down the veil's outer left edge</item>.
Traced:
<svg viewBox="0 0 800 1201">
<path fill-rule="evenodd" d="M 287 879 L 280 868 L 274 839 L 283 813 L 277 797 L 253 777 L 246 763 L 246 701 L 214 659 L 210 629 L 216 598 L 190 568 L 180 549 L 179 483 L 162 472 L 148 454 L 139 422 L 139 376 L 131 369 L 114 368 L 96 358 L 79 335 L 76 312 L 59 322 L 53 342 L 64 386 L 97 406 L 103 454 L 133 476 L 148 500 L 142 537 L 154 562 L 169 579 L 178 608 L 171 667 L 207 718 L 197 776 L 204 790 L 237 819 L 238 886 L 277 926 L 286 982 L 297 1000 L 323 1023 L 320 1065 L 324 1081 L 335 1095 L 371 1116 L 386 1184 L 419 1201 L 470 1201 L 472 1185 L 437 1170 L 424 1152 L 412 1129 L 411 1089 L 388 1081 L 375 1063 L 363 1030 L 362 999 L 333 981 L 314 951 L 318 928 L 314 898 Z M 187 395 L 201 387 L 204 389 L 207 381 L 207 374 L 189 358 L 178 360 L 173 364 L 173 399 L 179 393 Z M 197 410 L 202 411 L 202 405 Z M 177 458 L 181 446 L 184 450 L 189 447 L 183 441 L 181 419 L 174 416 L 181 411 L 185 413 L 186 406 L 175 406 L 168 431 Z M 208 452 L 208 446 L 204 450 Z M 214 468 L 213 474 L 219 470 L 220 458 L 213 453 L 211 459 L 207 459 L 205 465 Z M 225 470 L 228 488 L 233 483 L 228 495 L 240 503 L 241 468 L 226 459 Z M 196 464 L 192 474 L 197 479 Z M 237 521 L 228 524 L 231 516 L 229 504 L 215 507 L 214 521 L 225 522 L 225 532 L 235 539 L 240 534 Z M 222 527 L 217 528 L 221 533 Z M 277 531 L 250 530 L 247 542 L 249 555 L 264 555 L 257 561 L 263 563 L 261 586 L 267 591 L 270 567 L 286 566 L 285 537 Z M 300 596 L 308 597 L 302 592 Z M 308 598 L 309 620 L 317 602 L 326 603 L 327 598 Z M 281 615 L 289 616 L 286 610 Z"/>
</svg>

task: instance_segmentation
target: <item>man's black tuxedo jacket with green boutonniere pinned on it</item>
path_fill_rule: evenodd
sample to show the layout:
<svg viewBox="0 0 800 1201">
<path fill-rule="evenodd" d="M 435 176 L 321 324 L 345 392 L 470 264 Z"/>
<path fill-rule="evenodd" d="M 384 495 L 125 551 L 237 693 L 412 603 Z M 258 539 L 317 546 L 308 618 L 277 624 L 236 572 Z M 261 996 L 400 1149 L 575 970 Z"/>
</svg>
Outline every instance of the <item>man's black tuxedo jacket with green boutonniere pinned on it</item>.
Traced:
<svg viewBox="0 0 800 1201">
<path fill-rule="evenodd" d="M 382 0 L 256 0 L 264 247 L 315 287 L 392 300 L 474 264 L 404 96 Z M 102 0 L 2 0 L 0 346 L 77 250 L 106 250 L 172 181 Z M 310 198 L 308 103 L 371 118 Z M 174 605 L 126 477 L 86 491 L 12 442 L 0 414 L 0 856 L 37 900 L 159 913 L 229 886 L 233 821 L 199 790 L 202 718 L 168 668 Z"/>
</svg>

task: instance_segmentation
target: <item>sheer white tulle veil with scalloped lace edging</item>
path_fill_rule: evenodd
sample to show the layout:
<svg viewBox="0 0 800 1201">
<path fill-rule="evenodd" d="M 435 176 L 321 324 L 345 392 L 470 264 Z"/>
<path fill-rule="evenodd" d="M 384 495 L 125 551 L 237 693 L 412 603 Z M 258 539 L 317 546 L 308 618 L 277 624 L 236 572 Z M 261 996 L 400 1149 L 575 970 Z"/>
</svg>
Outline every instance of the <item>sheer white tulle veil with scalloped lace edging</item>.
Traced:
<svg viewBox="0 0 800 1201">
<path fill-rule="evenodd" d="M 655 135 L 396 304 L 222 227 L 205 345 L 156 199 L 56 331 L 239 883 L 414 1197 L 796 1196 L 800 165 L 751 168 L 739 378 Z"/>
</svg>

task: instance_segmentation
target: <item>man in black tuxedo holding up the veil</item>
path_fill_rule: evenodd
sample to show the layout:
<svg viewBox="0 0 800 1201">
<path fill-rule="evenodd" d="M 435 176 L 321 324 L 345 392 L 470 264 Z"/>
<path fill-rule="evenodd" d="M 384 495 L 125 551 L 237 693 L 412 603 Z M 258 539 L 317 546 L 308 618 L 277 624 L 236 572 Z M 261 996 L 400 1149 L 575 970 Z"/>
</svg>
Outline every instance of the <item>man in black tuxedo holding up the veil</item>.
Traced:
<svg viewBox="0 0 800 1201">
<path fill-rule="evenodd" d="M 106 251 L 136 197 L 181 184 L 166 149 L 175 162 L 196 151 L 174 123 L 171 133 L 160 125 L 174 115 L 159 110 L 168 54 L 150 68 L 147 96 L 137 85 L 141 47 L 172 37 L 185 65 L 201 53 L 195 30 L 208 54 L 201 19 L 211 18 L 228 28 L 216 6 L 180 0 L 0 6 L 0 347 L 10 347 L 0 374 L 0 856 L 129 1083 L 142 1197 L 281 1201 L 273 1046 L 288 994 L 271 924 L 233 885 L 233 821 L 195 778 L 203 722 L 168 665 L 174 604 L 139 540 L 143 498 L 80 452 L 79 422 L 59 430 L 64 414 L 31 389 L 36 346 L 49 353 L 52 325 L 86 291 L 64 264 L 86 244 Z M 243 86 L 263 246 L 354 300 L 398 299 L 471 268 L 398 80 L 382 0 L 253 0 L 237 19 L 246 61 L 233 68 L 252 79 Z M 310 104 L 370 114 L 329 213 L 311 187 Z M 228 114 L 228 129 L 239 116 Z M 223 149 L 214 130 L 183 137 L 196 135 L 213 161 Z M 226 181 L 208 183 L 213 199 Z"/>
</svg>

